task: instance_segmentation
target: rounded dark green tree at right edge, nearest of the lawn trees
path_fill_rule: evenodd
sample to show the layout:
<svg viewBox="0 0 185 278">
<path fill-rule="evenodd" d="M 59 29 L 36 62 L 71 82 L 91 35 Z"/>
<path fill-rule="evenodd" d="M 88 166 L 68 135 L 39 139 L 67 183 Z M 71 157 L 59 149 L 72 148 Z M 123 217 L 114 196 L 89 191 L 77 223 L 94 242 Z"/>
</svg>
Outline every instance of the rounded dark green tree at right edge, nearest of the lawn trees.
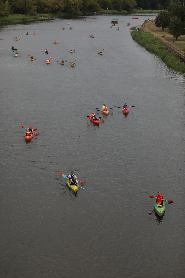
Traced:
<svg viewBox="0 0 185 278">
<path fill-rule="evenodd" d="M 174 17 L 169 26 L 169 33 L 177 40 L 178 37 L 185 35 L 185 23 L 179 17 Z"/>
</svg>

